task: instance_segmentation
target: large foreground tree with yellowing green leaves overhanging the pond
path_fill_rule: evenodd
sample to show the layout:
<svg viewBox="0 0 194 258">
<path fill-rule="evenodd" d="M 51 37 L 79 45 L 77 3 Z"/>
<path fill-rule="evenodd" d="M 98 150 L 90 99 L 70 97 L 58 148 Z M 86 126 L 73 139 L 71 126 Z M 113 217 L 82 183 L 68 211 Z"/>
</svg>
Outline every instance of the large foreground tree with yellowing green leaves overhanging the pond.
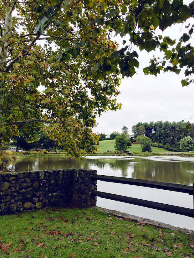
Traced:
<svg viewBox="0 0 194 258">
<path fill-rule="evenodd" d="M 164 55 L 162 61 L 154 57 L 145 74 L 181 68 L 186 77 L 194 73 L 193 46 L 185 44 L 192 24 L 178 42 L 156 32 L 192 15 L 193 2 L 181 0 L 1 1 L 0 142 L 17 136 L 18 125 L 25 130 L 25 124 L 52 123 L 50 137 L 68 136 L 70 154 L 94 151 L 96 114 L 120 108 L 120 73 L 132 76 L 139 66 L 134 46 L 160 48 Z M 114 35 L 124 37 L 123 48 Z"/>
</svg>

